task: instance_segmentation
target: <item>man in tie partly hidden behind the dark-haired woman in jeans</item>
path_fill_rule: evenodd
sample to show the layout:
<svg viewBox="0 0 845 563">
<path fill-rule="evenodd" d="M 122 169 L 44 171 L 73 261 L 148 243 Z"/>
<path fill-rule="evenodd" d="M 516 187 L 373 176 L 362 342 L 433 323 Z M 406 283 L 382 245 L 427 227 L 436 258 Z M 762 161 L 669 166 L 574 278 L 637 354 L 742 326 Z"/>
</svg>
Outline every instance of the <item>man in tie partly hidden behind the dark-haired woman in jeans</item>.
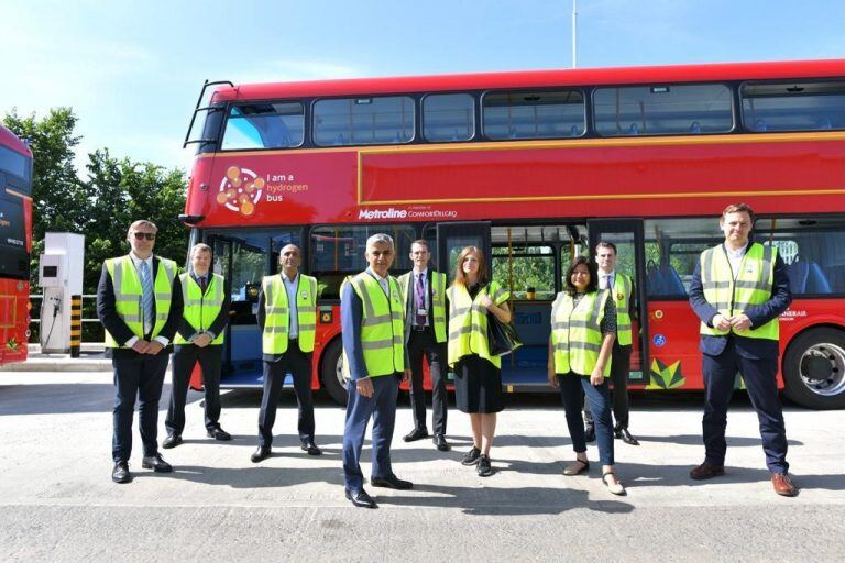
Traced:
<svg viewBox="0 0 845 563">
<path fill-rule="evenodd" d="M 630 352 L 633 334 L 630 321 L 636 318 L 636 298 L 634 280 L 616 271 L 616 245 L 600 242 L 595 245 L 595 263 L 599 266 L 599 289 L 607 289 L 616 305 L 616 340 L 613 341 L 611 357 L 611 380 L 613 382 L 613 417 L 616 423 L 613 433 L 626 444 L 639 445 L 628 431 L 628 376 L 630 372 Z M 585 437 L 588 442 L 595 440 L 595 424 L 590 406 L 584 401 Z"/>
</svg>

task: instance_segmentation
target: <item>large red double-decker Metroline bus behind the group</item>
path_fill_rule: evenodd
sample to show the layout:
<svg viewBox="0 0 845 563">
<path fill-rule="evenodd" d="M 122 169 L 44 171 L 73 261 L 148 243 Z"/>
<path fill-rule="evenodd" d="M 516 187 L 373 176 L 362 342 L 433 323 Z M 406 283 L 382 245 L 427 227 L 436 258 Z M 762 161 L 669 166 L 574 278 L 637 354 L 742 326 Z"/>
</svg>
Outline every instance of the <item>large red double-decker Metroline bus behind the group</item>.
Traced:
<svg viewBox="0 0 845 563">
<path fill-rule="evenodd" d="M 420 238 L 450 274 L 465 245 L 492 255 L 525 343 L 503 362 L 508 390 L 547 385 L 561 274 L 614 242 L 639 308 L 632 386 L 701 389 L 687 291 L 722 209 L 744 201 L 794 294 L 779 383 L 845 406 L 845 60 L 211 82 L 186 143 L 182 220 L 232 283 L 224 386 L 260 385 L 256 288 L 295 243 L 320 283 L 314 386 L 342 401 L 340 283 L 387 232 L 396 274 Z"/>
</svg>

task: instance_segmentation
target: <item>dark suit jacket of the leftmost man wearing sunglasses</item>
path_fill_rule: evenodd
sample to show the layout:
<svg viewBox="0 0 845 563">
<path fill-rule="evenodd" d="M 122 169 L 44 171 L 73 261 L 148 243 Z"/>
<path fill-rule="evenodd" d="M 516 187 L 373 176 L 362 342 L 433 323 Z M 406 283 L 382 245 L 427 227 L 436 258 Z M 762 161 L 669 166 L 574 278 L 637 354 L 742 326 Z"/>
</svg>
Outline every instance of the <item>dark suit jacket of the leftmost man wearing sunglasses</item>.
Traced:
<svg viewBox="0 0 845 563">
<path fill-rule="evenodd" d="M 153 279 L 158 274 L 158 265 L 161 260 L 158 256 L 153 256 Z M 169 340 L 171 343 L 162 349 L 160 354 L 169 354 L 173 352 L 173 336 L 176 335 L 176 329 L 182 320 L 183 309 L 182 298 L 182 284 L 179 284 L 179 276 L 174 276 L 173 279 L 173 297 L 171 300 L 171 312 L 167 314 L 167 321 L 162 328 L 160 336 L 164 336 Z M 153 312 L 155 312 L 155 301 L 153 301 Z M 123 319 L 118 314 L 117 307 L 114 306 L 114 286 L 111 283 L 111 276 L 106 268 L 106 264 L 102 265 L 102 273 L 100 274 L 100 283 L 97 286 L 97 317 L 100 322 L 114 336 L 114 340 L 119 344 L 124 344 L 135 334 L 127 327 Z M 144 340 L 150 340 L 150 334 L 144 335 Z M 106 349 L 106 357 L 135 357 L 140 355 L 132 349 Z"/>
</svg>

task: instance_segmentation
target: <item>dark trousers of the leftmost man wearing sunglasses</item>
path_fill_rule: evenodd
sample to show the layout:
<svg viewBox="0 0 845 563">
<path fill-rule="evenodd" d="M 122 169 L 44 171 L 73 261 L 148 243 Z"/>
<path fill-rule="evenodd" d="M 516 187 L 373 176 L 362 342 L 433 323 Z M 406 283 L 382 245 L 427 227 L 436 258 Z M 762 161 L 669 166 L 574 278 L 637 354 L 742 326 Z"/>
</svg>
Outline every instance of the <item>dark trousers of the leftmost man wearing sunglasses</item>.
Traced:
<svg viewBox="0 0 845 563">
<path fill-rule="evenodd" d="M 128 462 L 132 453 L 132 417 L 138 397 L 138 428 L 144 443 L 144 456 L 158 453 L 158 400 L 162 398 L 164 374 L 171 354 L 134 354 L 131 357 L 112 357 L 114 369 L 114 430 L 111 438 L 111 456 L 114 462 Z"/>
</svg>

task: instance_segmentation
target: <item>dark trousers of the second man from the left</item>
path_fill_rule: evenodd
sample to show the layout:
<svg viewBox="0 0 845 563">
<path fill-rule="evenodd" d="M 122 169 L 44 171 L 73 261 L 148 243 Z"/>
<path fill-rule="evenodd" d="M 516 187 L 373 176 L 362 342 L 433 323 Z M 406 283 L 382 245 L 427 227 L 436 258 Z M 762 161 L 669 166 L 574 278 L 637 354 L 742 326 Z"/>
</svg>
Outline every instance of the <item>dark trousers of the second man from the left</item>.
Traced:
<svg viewBox="0 0 845 563">
<path fill-rule="evenodd" d="M 185 430 L 185 401 L 194 366 L 199 362 L 202 369 L 202 387 L 206 393 L 206 429 L 212 430 L 220 423 L 220 364 L 222 345 L 206 347 L 185 344 L 175 346 L 173 353 L 173 384 L 171 406 L 164 426 L 168 434 L 182 434 Z"/>
</svg>

